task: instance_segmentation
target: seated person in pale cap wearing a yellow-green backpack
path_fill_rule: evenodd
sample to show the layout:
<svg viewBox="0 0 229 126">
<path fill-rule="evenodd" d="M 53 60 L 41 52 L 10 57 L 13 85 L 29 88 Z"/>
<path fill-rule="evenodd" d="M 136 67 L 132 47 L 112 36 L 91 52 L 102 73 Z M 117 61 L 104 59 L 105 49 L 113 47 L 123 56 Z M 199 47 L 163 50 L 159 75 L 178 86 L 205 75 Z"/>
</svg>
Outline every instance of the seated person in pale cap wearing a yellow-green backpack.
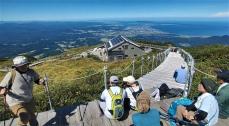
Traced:
<svg viewBox="0 0 229 126">
<path fill-rule="evenodd" d="M 106 117 L 110 119 L 120 119 L 124 114 L 124 98 L 126 92 L 118 86 L 117 76 L 110 77 L 109 88 L 102 92 L 99 106 Z"/>
</svg>

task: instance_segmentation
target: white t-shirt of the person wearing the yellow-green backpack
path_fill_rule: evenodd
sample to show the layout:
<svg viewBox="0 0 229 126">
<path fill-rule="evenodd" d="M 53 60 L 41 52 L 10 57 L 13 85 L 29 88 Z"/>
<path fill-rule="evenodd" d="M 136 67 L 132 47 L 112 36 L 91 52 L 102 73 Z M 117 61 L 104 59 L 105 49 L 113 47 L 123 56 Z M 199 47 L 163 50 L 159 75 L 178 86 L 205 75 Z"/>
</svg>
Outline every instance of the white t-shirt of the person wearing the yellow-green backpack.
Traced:
<svg viewBox="0 0 229 126">
<path fill-rule="evenodd" d="M 111 91 L 113 92 L 113 94 L 119 94 L 120 93 L 120 87 L 118 86 L 113 86 L 113 87 L 110 87 Z M 123 90 L 123 95 L 122 95 L 122 104 L 124 104 L 124 98 L 126 97 L 126 92 L 125 90 Z M 101 99 L 102 100 L 105 100 L 105 103 L 106 103 L 106 108 L 105 108 L 105 111 L 104 111 L 104 114 L 108 117 L 108 118 L 112 118 L 112 115 L 111 113 L 108 111 L 108 110 L 111 110 L 111 102 L 112 102 L 112 99 L 111 99 L 111 96 L 108 92 L 107 89 L 105 89 L 103 92 L 102 92 L 102 95 L 101 95 Z"/>
</svg>

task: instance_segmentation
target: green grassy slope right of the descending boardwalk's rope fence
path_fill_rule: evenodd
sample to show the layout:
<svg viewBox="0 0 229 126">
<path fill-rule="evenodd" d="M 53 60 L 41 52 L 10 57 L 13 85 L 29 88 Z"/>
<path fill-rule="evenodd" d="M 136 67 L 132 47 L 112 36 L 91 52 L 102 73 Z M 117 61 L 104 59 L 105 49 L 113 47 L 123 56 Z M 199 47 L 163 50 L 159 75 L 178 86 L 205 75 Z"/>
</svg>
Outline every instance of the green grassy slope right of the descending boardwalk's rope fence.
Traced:
<svg viewBox="0 0 229 126">
<path fill-rule="evenodd" d="M 185 50 L 191 53 L 195 59 L 195 67 L 203 72 L 216 76 L 214 72 L 216 68 L 229 70 L 229 46 L 200 46 L 195 48 L 187 48 Z M 216 80 L 216 78 L 209 77 L 196 71 L 190 93 L 191 97 L 197 95 L 197 86 L 202 77 L 208 77 Z"/>
</svg>

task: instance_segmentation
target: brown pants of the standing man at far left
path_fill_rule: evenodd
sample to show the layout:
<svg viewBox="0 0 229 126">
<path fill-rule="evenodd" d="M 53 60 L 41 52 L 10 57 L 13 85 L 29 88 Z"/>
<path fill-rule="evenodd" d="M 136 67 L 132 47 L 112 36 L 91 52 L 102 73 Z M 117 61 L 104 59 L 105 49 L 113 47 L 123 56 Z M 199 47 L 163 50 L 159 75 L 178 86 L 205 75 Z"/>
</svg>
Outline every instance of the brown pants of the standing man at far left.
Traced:
<svg viewBox="0 0 229 126">
<path fill-rule="evenodd" d="M 38 126 L 38 122 L 34 114 L 35 105 L 33 101 L 14 105 L 10 107 L 10 109 L 16 116 L 18 116 L 17 126 L 26 126 L 27 123 L 29 123 L 30 126 Z"/>
</svg>

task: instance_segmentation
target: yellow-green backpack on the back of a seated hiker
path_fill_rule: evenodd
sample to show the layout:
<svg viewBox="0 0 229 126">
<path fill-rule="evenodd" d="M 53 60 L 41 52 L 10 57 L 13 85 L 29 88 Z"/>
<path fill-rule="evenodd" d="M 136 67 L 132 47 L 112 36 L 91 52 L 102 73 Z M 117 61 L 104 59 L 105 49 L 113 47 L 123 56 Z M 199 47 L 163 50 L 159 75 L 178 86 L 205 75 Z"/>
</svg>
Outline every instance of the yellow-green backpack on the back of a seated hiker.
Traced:
<svg viewBox="0 0 229 126">
<path fill-rule="evenodd" d="M 113 94 L 111 89 L 109 89 L 108 93 L 110 94 L 112 99 L 110 113 L 113 119 L 120 119 L 124 114 L 124 107 L 122 105 L 123 90 L 120 89 L 119 94 Z"/>
</svg>

